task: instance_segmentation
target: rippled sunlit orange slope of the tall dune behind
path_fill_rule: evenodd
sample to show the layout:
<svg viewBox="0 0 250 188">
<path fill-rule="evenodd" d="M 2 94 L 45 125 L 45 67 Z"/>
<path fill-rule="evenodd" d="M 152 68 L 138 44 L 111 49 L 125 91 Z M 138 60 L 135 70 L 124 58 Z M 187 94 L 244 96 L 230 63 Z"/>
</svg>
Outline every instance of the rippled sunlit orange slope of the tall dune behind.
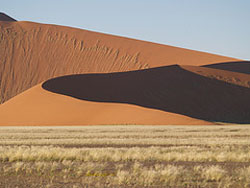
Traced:
<svg viewBox="0 0 250 188">
<path fill-rule="evenodd" d="M 48 79 L 237 59 L 70 27 L 0 22 L 0 103 Z"/>
</svg>

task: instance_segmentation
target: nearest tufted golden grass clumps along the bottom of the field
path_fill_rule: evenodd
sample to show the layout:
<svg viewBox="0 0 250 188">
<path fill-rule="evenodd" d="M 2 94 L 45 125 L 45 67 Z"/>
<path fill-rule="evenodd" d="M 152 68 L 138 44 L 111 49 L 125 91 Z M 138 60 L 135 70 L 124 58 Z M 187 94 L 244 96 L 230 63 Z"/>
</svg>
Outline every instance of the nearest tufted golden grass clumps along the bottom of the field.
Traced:
<svg viewBox="0 0 250 188">
<path fill-rule="evenodd" d="M 62 162 L 13 162 L 0 168 L 1 176 L 38 175 L 52 179 L 74 179 L 77 182 L 100 181 L 110 186 L 201 186 L 217 185 L 221 187 L 248 187 L 249 167 L 236 168 L 234 172 L 218 165 L 184 165 L 155 164 L 145 167 L 142 163 L 116 164 L 109 171 L 108 163 Z M 227 186 L 226 186 L 227 185 Z"/>
</svg>

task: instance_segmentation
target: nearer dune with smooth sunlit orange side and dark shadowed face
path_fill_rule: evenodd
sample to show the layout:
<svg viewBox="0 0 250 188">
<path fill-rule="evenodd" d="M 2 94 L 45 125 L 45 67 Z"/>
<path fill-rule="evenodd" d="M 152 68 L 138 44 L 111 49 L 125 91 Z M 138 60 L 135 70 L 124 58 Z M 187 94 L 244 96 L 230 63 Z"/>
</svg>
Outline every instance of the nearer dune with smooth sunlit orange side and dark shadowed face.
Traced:
<svg viewBox="0 0 250 188">
<path fill-rule="evenodd" d="M 250 123 L 248 87 L 192 69 L 173 65 L 57 77 L 1 105 L 0 124 Z"/>
</svg>

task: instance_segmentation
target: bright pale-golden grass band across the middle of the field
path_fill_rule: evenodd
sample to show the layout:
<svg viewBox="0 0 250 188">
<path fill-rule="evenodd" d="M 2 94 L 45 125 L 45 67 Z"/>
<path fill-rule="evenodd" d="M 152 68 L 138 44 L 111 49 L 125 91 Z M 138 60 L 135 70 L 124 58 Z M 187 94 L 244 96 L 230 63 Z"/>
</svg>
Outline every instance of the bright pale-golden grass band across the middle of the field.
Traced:
<svg viewBox="0 0 250 188">
<path fill-rule="evenodd" d="M 132 147 L 132 148 L 63 148 L 53 146 L 1 146 L 0 161 L 198 161 L 250 162 L 245 148 Z"/>
</svg>

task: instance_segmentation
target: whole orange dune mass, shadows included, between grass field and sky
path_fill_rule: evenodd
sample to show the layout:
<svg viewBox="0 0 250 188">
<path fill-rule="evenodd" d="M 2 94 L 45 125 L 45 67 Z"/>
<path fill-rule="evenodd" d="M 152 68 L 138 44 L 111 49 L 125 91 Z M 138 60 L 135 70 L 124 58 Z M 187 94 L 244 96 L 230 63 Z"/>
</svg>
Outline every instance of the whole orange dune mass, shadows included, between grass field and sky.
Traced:
<svg viewBox="0 0 250 188">
<path fill-rule="evenodd" d="M 250 123 L 249 62 L 57 25 L 0 27 L 0 125 Z"/>
</svg>

